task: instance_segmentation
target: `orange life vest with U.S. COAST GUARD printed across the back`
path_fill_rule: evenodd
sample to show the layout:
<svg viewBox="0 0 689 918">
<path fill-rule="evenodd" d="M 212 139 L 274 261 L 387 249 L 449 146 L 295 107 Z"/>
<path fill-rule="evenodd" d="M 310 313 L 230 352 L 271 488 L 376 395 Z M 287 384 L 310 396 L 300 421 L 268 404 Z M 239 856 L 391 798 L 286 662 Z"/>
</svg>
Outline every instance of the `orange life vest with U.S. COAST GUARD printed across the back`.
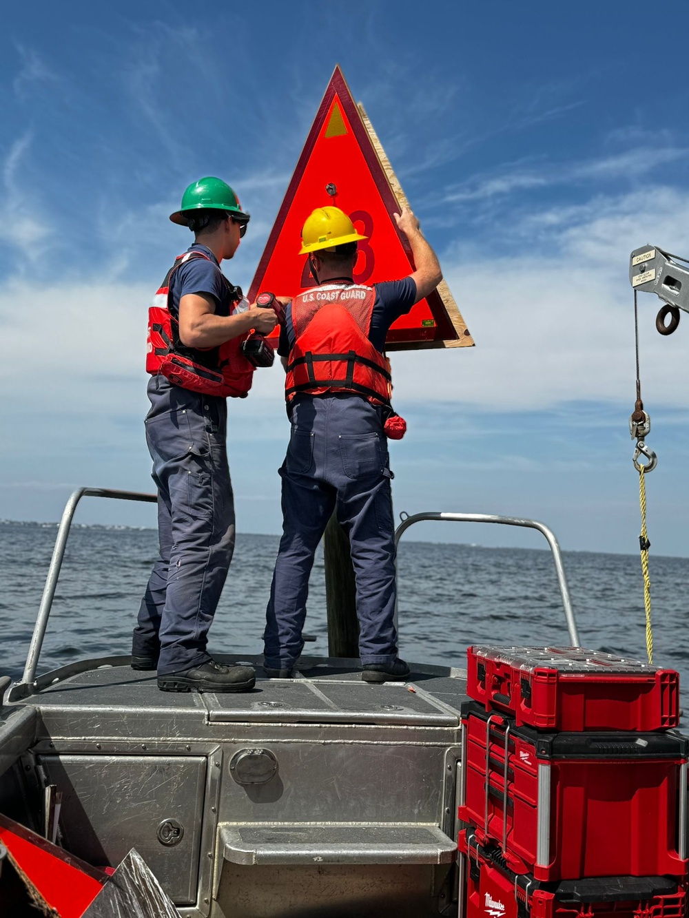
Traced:
<svg viewBox="0 0 689 918">
<path fill-rule="evenodd" d="M 323 284 L 292 300 L 295 343 L 288 357 L 285 397 L 301 392 L 354 392 L 390 407 L 390 364 L 368 340 L 373 287 Z"/>
</svg>

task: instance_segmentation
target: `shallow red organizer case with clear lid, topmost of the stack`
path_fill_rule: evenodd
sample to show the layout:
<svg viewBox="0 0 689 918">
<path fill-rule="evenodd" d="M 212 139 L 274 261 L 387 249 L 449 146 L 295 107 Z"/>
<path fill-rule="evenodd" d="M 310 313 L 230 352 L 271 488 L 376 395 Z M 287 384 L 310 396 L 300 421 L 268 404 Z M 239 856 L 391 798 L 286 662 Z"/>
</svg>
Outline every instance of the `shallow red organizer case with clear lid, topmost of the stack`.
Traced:
<svg viewBox="0 0 689 918">
<path fill-rule="evenodd" d="M 540 730 L 662 730 L 679 723 L 679 674 L 581 647 L 469 647 L 467 694 Z"/>
</svg>

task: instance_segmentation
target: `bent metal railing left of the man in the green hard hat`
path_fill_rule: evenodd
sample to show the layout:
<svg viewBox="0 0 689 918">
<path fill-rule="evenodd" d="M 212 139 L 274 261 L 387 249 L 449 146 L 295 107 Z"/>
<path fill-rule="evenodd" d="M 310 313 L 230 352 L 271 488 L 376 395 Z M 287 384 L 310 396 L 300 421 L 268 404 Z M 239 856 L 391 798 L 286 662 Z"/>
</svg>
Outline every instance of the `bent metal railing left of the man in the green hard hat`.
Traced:
<svg viewBox="0 0 689 918">
<path fill-rule="evenodd" d="M 51 617 L 52 600 L 55 597 L 55 588 L 57 588 L 58 577 L 64 558 L 64 550 L 67 547 L 67 537 L 72 528 L 74 510 L 81 498 L 113 498 L 116 500 L 141 500 L 144 503 L 154 504 L 158 500 L 156 494 L 142 494 L 139 491 L 117 491 L 107 487 L 80 487 L 74 491 L 73 495 L 67 501 L 67 506 L 62 513 L 62 520 L 58 527 L 55 547 L 52 550 L 51 565 L 48 568 L 43 595 L 40 599 L 39 614 L 36 624 L 31 635 L 31 644 L 28 646 L 27 663 L 24 667 L 24 675 L 21 682 L 13 686 L 9 692 L 9 700 L 15 701 L 20 698 L 26 698 L 33 693 L 34 682 L 36 680 L 36 669 L 39 666 L 40 648 L 43 646 L 43 638 L 48 628 L 48 620 Z"/>
</svg>

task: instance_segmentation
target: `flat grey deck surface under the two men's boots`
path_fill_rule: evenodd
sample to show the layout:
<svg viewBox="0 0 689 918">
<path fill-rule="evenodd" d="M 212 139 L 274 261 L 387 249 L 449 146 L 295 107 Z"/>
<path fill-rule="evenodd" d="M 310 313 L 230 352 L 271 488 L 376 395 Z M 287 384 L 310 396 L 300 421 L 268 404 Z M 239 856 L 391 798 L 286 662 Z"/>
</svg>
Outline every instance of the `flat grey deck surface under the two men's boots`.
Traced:
<svg viewBox="0 0 689 918">
<path fill-rule="evenodd" d="M 36 706 L 42 719 L 71 719 L 76 711 L 101 711 L 105 720 L 129 721 L 167 714 L 183 721 L 264 723 L 349 723 L 457 726 L 465 698 L 461 670 L 412 665 L 407 681 L 380 685 L 361 681 L 357 660 L 302 657 L 291 679 L 264 677 L 260 657 L 219 655 L 222 662 L 256 669 L 252 691 L 237 693 L 163 692 L 155 673 L 132 670 L 129 657 L 92 660 L 40 677 L 37 694 L 20 703 Z M 86 668 L 87 667 L 87 668 Z M 11 709 L 6 709 L 9 711 Z M 62 716 L 61 716 L 62 714 Z M 104 724 L 101 723 L 101 726 Z M 67 726 L 65 722 L 64 726 Z M 70 730 L 57 733 L 64 735 Z M 51 729 L 54 736 L 55 731 Z"/>
</svg>

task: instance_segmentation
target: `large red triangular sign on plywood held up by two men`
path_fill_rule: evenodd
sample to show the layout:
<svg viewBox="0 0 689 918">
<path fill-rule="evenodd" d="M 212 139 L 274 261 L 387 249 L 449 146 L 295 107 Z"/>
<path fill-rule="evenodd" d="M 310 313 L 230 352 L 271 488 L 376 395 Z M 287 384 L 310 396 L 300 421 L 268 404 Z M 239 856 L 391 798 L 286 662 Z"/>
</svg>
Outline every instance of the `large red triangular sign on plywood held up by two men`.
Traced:
<svg viewBox="0 0 689 918">
<path fill-rule="evenodd" d="M 299 156 L 287 194 L 258 263 L 249 298 L 262 290 L 294 297 L 314 285 L 301 228 L 314 207 L 334 205 L 367 236 L 359 242 L 358 284 L 399 280 L 413 271 L 411 252 L 393 214 L 406 199 L 362 106 L 356 106 L 339 67 Z M 390 328 L 389 351 L 462 347 L 474 342 L 445 282 Z"/>
</svg>

